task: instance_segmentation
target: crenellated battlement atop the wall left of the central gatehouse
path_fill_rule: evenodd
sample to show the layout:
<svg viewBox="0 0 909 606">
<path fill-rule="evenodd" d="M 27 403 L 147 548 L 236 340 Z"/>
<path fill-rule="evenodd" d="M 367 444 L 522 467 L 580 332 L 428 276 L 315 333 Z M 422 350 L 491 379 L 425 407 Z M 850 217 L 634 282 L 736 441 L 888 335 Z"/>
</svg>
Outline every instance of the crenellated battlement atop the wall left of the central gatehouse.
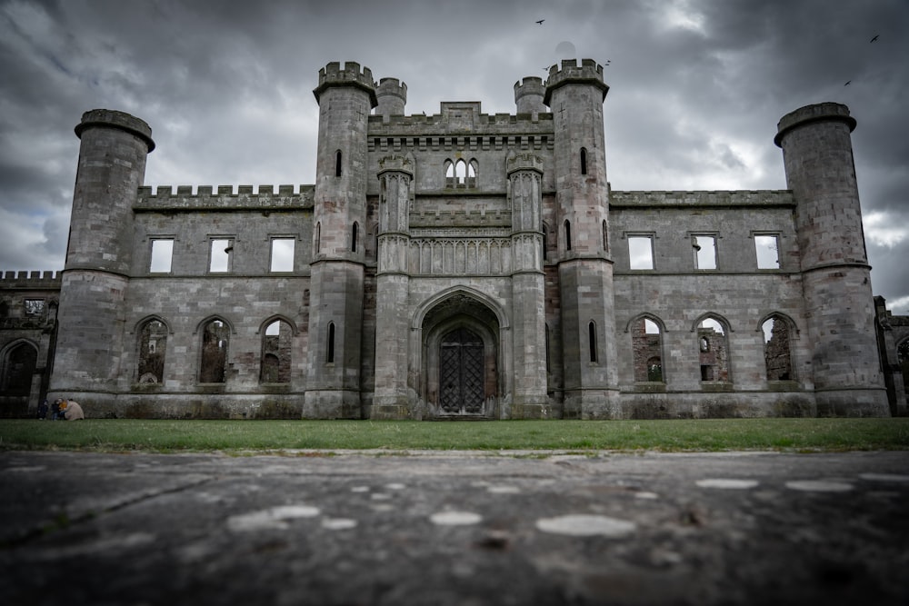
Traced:
<svg viewBox="0 0 909 606">
<path fill-rule="evenodd" d="M 313 207 L 313 185 L 199 185 L 195 194 L 192 185 L 140 187 L 135 211 L 206 211 L 206 210 L 298 210 Z"/>
</svg>

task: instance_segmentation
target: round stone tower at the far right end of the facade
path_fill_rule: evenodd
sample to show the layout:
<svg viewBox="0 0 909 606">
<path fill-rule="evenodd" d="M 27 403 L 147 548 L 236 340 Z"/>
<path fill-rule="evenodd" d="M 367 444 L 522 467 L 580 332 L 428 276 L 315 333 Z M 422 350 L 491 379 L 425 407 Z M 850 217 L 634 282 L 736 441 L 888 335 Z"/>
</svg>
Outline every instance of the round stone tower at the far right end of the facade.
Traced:
<svg viewBox="0 0 909 606">
<path fill-rule="evenodd" d="M 784 115 L 774 138 L 783 148 L 786 183 L 796 201 L 820 416 L 889 415 L 855 181 L 854 128 L 845 105 L 807 105 Z"/>
</svg>

